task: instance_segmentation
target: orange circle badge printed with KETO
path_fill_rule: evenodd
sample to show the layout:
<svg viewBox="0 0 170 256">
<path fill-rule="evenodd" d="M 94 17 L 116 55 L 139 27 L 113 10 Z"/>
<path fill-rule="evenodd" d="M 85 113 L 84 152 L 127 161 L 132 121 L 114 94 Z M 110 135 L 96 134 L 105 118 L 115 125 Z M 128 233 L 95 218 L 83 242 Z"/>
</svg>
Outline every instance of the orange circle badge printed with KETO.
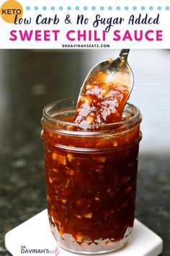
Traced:
<svg viewBox="0 0 170 256">
<path fill-rule="evenodd" d="M 23 8 L 18 1 L 9 0 L 1 5 L 1 18 L 8 23 L 17 22 L 22 18 Z"/>
</svg>

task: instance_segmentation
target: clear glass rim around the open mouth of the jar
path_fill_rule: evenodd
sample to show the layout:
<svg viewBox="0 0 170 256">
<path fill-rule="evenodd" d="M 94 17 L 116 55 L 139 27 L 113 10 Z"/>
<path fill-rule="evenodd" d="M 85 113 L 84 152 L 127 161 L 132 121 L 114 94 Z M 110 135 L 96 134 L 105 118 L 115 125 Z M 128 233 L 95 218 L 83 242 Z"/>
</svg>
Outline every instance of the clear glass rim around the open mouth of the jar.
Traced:
<svg viewBox="0 0 170 256">
<path fill-rule="evenodd" d="M 64 120 L 60 120 L 60 119 L 56 119 L 56 116 L 53 117 L 50 114 L 48 114 L 48 112 L 50 111 L 51 108 L 53 108 L 53 106 L 62 104 L 62 103 L 66 103 L 68 101 L 77 101 L 77 98 L 65 98 L 65 99 L 61 99 L 58 101 L 53 101 L 51 103 L 49 103 L 48 105 L 46 105 L 43 110 L 42 110 L 42 123 L 49 123 L 49 121 L 53 122 L 53 124 L 59 124 L 59 125 L 63 125 L 65 127 L 68 126 L 72 126 L 72 127 L 76 127 L 76 128 L 80 128 L 81 130 L 84 129 L 84 126 L 82 124 L 77 124 L 77 123 L 73 123 L 71 121 L 64 121 Z M 142 116 L 140 114 L 140 110 L 139 108 L 137 108 L 135 105 L 133 105 L 132 103 L 126 103 L 125 107 L 129 107 L 132 108 L 135 111 L 135 114 L 133 116 L 130 116 L 129 119 L 127 120 L 123 120 L 123 121 L 118 121 L 118 122 L 114 122 L 114 123 L 109 123 L 109 124 L 89 124 L 88 125 L 88 129 L 84 129 L 85 132 L 90 132 L 91 133 L 91 129 L 114 129 L 116 127 L 129 127 L 133 124 L 135 124 L 136 122 L 140 122 L 142 119 Z M 73 107 L 72 109 L 74 109 L 75 107 Z M 124 108 L 125 109 L 125 108 Z M 68 108 L 65 108 L 65 111 L 68 110 Z M 72 131 L 70 131 L 72 132 Z M 92 132 L 94 133 L 94 132 Z"/>
</svg>

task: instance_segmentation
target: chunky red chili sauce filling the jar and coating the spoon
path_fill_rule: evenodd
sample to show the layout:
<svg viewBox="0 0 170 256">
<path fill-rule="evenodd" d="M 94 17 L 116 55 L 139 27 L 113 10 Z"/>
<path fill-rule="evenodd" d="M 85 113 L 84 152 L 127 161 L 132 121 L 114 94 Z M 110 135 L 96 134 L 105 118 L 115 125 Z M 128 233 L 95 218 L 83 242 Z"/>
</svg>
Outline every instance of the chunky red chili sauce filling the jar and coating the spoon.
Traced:
<svg viewBox="0 0 170 256">
<path fill-rule="evenodd" d="M 78 102 L 73 120 L 78 124 L 121 121 L 127 98 L 124 86 L 106 87 L 99 80 L 91 81 Z M 104 249 L 128 236 L 135 213 L 135 140 L 140 136 L 139 126 L 117 135 L 113 131 L 113 136 L 106 139 L 75 139 L 45 127 L 43 134 L 48 215 L 58 243 L 72 250 L 81 251 L 83 247 L 88 251 L 91 243 Z M 82 153 L 71 148 L 98 150 Z"/>
</svg>

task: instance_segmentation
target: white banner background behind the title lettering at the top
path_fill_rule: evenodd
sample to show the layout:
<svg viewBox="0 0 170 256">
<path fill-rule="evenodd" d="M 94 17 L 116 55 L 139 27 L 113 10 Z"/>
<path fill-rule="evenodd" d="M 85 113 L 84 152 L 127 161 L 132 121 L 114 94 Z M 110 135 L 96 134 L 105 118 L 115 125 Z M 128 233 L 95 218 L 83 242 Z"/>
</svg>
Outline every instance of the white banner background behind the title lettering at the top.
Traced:
<svg viewBox="0 0 170 256">
<path fill-rule="evenodd" d="M 0 4 L 3 4 L 4 1 L 0 1 Z M 113 41 L 112 40 L 112 33 L 110 33 L 109 40 L 105 43 L 110 43 L 110 48 L 169 48 L 170 46 L 170 10 L 166 11 L 165 7 L 170 6 L 169 0 L 164 1 L 112 1 L 112 0 L 94 0 L 94 1 L 71 1 L 71 0 L 63 0 L 63 1 L 52 1 L 52 0 L 20 0 L 20 4 L 24 8 L 24 18 L 32 17 L 32 23 L 30 25 L 13 25 L 4 22 L 0 18 L 0 27 L 3 29 L 0 30 L 0 48 L 61 48 L 62 43 L 71 43 L 70 41 L 66 40 L 66 31 L 67 30 L 94 30 L 91 23 L 94 21 L 94 17 L 96 14 L 101 14 L 102 17 L 125 17 L 125 21 L 122 25 L 115 25 L 112 27 L 112 30 L 121 30 L 122 34 L 125 30 L 130 30 L 133 34 L 133 30 L 163 30 L 163 40 L 162 41 Z M 26 10 L 26 7 L 30 6 L 30 11 Z M 39 9 L 35 11 L 34 7 L 37 6 Z M 47 7 L 47 10 L 43 11 L 42 7 Z M 54 6 L 55 11 L 51 11 L 50 7 Z M 58 8 L 62 6 L 63 11 L 60 11 Z M 71 10 L 68 11 L 67 7 L 70 6 Z M 76 11 L 75 7 L 79 6 L 80 10 Z M 83 7 L 88 7 L 87 11 L 83 10 Z M 91 7 L 97 7 L 96 11 L 91 10 Z M 99 7 L 103 6 L 104 11 L 99 10 Z M 112 11 L 108 10 L 108 7 L 112 7 Z M 120 7 L 120 11 L 117 11 L 116 7 Z M 125 6 L 129 7 L 129 10 L 125 10 Z M 133 7 L 137 7 L 137 10 L 133 11 Z M 145 7 L 144 11 L 141 10 L 141 7 Z M 153 7 L 153 10 L 149 10 L 149 7 Z M 158 7 L 161 7 L 161 11 L 158 11 Z M 160 14 L 160 24 L 159 25 L 128 25 L 128 19 L 131 14 L 135 14 L 135 17 L 138 17 L 138 14 L 142 14 L 142 17 L 145 17 L 146 13 L 148 13 L 149 17 L 156 17 L 157 14 Z M 37 14 L 42 14 L 44 17 L 53 17 L 54 14 L 58 14 L 58 17 L 62 20 L 58 25 L 36 25 L 35 18 Z M 66 14 L 71 15 L 72 24 L 66 25 L 64 23 Z M 76 16 L 77 14 L 84 14 L 86 17 L 89 17 L 89 23 L 86 26 L 82 25 L 75 25 Z M 50 41 L 35 41 L 33 38 L 31 41 L 10 41 L 9 40 L 9 33 L 11 30 L 61 30 L 60 38 L 56 42 L 54 40 Z M 104 27 L 100 26 L 97 28 L 98 32 L 103 30 Z M 112 32 L 112 31 L 111 31 Z M 73 43 L 80 43 L 79 41 L 73 41 Z M 83 43 L 83 42 L 82 42 Z M 86 42 L 88 43 L 88 42 Z M 91 42 L 95 43 L 95 42 Z"/>
</svg>

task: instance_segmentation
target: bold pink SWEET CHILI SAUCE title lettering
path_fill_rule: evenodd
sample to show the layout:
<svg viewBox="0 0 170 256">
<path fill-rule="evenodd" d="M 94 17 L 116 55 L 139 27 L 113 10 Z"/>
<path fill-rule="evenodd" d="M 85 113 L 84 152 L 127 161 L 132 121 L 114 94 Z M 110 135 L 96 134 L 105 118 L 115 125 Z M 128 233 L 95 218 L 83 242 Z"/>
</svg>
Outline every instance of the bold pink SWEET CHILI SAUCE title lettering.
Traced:
<svg viewBox="0 0 170 256">
<path fill-rule="evenodd" d="M 59 40 L 60 30 L 11 30 L 10 38 L 11 41 L 22 40 L 22 41 L 50 41 Z M 105 30 L 68 30 L 65 34 L 66 40 L 68 41 L 161 41 L 162 30 L 113 30 L 110 31 L 109 35 Z M 110 38 L 112 37 L 112 38 Z"/>
</svg>

